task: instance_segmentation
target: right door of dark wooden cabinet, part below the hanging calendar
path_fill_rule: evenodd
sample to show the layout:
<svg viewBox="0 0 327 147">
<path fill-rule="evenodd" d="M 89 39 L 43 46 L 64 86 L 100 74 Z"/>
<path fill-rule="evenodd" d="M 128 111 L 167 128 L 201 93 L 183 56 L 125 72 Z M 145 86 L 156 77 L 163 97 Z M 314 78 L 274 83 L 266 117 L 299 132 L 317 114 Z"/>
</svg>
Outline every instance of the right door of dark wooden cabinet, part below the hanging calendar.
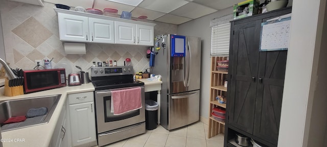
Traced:
<svg viewBox="0 0 327 147">
<path fill-rule="evenodd" d="M 277 145 L 287 51 L 260 52 L 253 135 Z"/>
</svg>

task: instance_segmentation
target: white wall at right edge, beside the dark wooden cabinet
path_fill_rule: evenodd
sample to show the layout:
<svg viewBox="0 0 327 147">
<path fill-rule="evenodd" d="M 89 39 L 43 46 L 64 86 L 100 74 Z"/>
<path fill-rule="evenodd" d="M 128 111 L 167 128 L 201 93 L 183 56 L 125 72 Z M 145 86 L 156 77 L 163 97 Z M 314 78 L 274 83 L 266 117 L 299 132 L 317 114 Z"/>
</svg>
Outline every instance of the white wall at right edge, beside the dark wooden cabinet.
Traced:
<svg viewBox="0 0 327 147">
<path fill-rule="evenodd" d="M 323 146 L 324 143 L 325 3 L 325 0 L 310 1 L 310 5 L 305 1 L 293 2 L 278 146 Z"/>
</svg>

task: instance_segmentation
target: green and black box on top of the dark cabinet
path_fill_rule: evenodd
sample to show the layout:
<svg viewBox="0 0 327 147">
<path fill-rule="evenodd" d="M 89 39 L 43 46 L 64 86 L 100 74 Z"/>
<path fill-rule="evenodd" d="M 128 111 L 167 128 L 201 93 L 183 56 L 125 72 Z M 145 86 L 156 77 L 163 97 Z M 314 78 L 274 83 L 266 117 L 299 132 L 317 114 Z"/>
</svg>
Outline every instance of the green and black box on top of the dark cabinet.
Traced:
<svg viewBox="0 0 327 147">
<path fill-rule="evenodd" d="M 239 19 L 246 16 L 252 16 L 258 14 L 259 12 L 259 0 L 247 0 L 233 7 L 233 19 Z"/>
</svg>

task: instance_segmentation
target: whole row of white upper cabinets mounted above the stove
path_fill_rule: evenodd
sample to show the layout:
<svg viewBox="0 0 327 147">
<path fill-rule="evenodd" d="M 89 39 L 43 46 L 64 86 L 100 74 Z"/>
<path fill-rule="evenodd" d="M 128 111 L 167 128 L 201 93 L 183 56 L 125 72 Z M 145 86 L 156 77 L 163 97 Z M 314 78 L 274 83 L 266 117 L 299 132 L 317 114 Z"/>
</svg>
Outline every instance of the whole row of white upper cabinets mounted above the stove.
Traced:
<svg viewBox="0 0 327 147">
<path fill-rule="evenodd" d="M 153 46 L 154 23 L 54 8 L 60 40 Z"/>
</svg>

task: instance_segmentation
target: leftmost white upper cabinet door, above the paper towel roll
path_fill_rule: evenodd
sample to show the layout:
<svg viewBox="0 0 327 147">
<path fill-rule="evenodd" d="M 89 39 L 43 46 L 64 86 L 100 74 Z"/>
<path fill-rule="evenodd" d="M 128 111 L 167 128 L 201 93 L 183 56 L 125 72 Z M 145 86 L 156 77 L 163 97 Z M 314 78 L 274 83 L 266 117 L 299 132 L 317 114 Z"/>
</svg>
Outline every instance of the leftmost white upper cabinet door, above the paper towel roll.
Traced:
<svg viewBox="0 0 327 147">
<path fill-rule="evenodd" d="M 89 42 L 88 17 L 58 13 L 60 40 Z"/>
</svg>

